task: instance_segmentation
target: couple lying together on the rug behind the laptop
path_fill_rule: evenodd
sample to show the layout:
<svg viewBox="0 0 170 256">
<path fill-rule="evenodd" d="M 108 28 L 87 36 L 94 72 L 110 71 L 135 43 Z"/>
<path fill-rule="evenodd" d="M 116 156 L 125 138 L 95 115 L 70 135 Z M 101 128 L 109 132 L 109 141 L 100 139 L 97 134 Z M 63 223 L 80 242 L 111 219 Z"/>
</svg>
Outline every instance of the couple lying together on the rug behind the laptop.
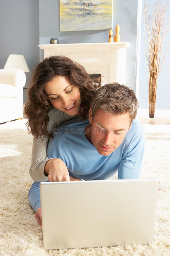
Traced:
<svg viewBox="0 0 170 256">
<path fill-rule="evenodd" d="M 39 182 L 141 175 L 145 132 L 134 121 L 135 93 L 118 83 L 97 87 L 69 58 L 53 56 L 37 65 L 25 113 L 34 135 L 29 202 L 40 226 Z"/>
</svg>

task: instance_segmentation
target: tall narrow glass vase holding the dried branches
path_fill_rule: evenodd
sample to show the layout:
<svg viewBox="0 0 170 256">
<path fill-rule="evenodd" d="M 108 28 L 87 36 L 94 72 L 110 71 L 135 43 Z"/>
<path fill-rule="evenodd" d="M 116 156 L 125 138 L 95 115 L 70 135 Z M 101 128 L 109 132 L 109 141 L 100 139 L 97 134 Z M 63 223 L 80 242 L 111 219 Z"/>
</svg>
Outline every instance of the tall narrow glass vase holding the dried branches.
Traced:
<svg viewBox="0 0 170 256">
<path fill-rule="evenodd" d="M 154 118 L 156 104 L 157 79 L 149 77 L 149 117 Z"/>
</svg>

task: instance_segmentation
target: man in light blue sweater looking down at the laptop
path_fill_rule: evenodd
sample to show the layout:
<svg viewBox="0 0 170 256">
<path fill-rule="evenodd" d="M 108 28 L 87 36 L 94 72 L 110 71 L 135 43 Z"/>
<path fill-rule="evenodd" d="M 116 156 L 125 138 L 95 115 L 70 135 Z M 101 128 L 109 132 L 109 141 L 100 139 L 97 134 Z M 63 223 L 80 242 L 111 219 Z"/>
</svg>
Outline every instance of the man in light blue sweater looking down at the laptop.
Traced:
<svg viewBox="0 0 170 256">
<path fill-rule="evenodd" d="M 118 83 L 97 90 L 89 110 L 89 120 L 81 117 L 56 129 L 48 145 L 49 158 L 60 158 L 67 166 L 70 180 L 140 178 L 145 132 L 136 117 L 135 93 Z M 29 201 L 41 226 L 39 183 L 33 183 Z"/>
</svg>

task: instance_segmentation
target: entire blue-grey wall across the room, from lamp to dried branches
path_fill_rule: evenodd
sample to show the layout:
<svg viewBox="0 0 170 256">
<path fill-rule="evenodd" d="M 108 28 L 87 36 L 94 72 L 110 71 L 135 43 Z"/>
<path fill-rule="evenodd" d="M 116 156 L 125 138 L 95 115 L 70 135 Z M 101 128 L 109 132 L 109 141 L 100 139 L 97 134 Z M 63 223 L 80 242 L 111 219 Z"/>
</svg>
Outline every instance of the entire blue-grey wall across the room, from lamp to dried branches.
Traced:
<svg viewBox="0 0 170 256">
<path fill-rule="evenodd" d="M 113 0 L 113 26 L 120 25 L 121 42 L 129 42 L 127 49 L 126 85 L 136 91 L 136 58 L 139 64 L 139 107 L 148 108 L 148 68 L 145 55 L 144 18 L 141 25 L 141 51 L 137 48 L 137 8 L 142 0 Z M 146 0 L 152 9 L 152 0 Z M 162 0 L 163 3 L 163 0 Z M 140 12 L 139 12 L 140 13 Z M 143 15 L 143 3 L 142 3 Z M 140 15 L 138 15 L 139 18 Z M 167 24 L 170 17 L 170 5 L 166 13 Z M 31 73 L 26 73 L 26 86 L 32 70 L 43 59 L 38 44 L 49 44 L 50 38 L 58 37 L 60 44 L 108 42 L 109 31 L 59 31 L 59 0 L 1 0 L 0 1 L 0 69 L 3 69 L 9 54 L 25 56 Z M 170 29 L 165 38 L 162 53 L 165 53 L 170 38 Z M 140 45 L 140 42 L 139 42 Z M 139 46 L 138 45 L 138 46 Z M 39 55 L 40 53 L 40 55 Z M 170 109 L 170 49 L 158 79 L 156 99 L 157 109 Z M 137 90 L 138 93 L 138 90 Z M 24 90 L 24 101 L 26 89 Z"/>
</svg>

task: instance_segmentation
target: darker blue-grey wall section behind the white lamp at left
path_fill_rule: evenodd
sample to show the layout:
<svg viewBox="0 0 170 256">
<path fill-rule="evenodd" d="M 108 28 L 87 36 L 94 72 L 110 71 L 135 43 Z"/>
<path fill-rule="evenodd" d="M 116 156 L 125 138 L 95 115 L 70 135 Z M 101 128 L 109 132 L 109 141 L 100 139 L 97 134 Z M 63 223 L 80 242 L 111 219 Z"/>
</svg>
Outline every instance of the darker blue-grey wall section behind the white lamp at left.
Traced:
<svg viewBox="0 0 170 256">
<path fill-rule="evenodd" d="M 30 73 L 26 73 L 24 102 L 33 68 L 39 62 L 39 1 L 0 1 L 0 69 L 9 54 L 24 55 Z"/>
</svg>

